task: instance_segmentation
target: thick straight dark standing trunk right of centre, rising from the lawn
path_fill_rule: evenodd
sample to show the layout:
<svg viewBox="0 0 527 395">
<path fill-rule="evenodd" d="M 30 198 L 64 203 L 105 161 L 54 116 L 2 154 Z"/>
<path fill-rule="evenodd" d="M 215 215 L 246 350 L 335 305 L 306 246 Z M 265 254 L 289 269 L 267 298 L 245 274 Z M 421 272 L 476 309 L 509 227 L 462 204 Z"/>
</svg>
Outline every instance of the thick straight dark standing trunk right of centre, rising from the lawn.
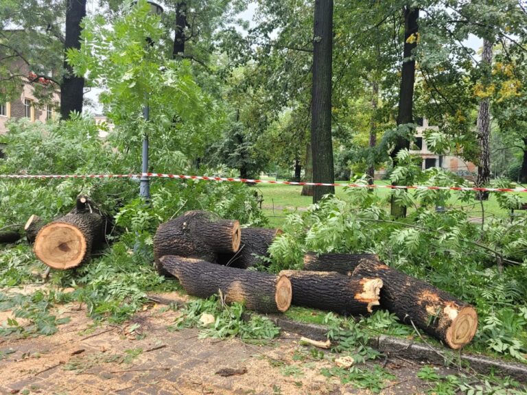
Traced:
<svg viewBox="0 0 527 395">
<path fill-rule="evenodd" d="M 331 141 L 331 64 L 333 0 L 315 0 L 311 149 L 313 182 L 335 182 Z M 335 193 L 334 187 L 314 187 L 313 202 Z"/>
</svg>

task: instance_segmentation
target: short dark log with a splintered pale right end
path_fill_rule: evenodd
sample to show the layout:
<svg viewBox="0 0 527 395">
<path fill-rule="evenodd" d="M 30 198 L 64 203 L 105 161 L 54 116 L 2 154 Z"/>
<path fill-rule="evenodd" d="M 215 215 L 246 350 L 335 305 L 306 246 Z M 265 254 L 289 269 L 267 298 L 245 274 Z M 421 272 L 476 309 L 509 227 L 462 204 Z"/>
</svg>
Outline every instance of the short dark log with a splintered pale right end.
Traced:
<svg viewBox="0 0 527 395">
<path fill-rule="evenodd" d="M 282 270 L 280 275 L 291 281 L 292 304 L 334 311 L 344 315 L 371 313 L 379 305 L 379 278 L 349 277 L 336 272 Z"/>
</svg>

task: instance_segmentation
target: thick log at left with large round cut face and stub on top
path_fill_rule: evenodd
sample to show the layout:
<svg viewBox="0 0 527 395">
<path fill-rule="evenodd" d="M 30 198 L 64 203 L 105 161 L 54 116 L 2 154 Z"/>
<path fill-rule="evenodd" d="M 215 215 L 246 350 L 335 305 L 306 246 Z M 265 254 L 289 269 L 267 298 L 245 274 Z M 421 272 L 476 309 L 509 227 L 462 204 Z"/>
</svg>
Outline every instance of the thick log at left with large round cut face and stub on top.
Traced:
<svg viewBox="0 0 527 395">
<path fill-rule="evenodd" d="M 54 269 L 70 269 L 89 261 L 91 251 L 104 241 L 106 218 L 85 196 L 64 217 L 40 228 L 34 251 L 38 259 Z"/>
</svg>

